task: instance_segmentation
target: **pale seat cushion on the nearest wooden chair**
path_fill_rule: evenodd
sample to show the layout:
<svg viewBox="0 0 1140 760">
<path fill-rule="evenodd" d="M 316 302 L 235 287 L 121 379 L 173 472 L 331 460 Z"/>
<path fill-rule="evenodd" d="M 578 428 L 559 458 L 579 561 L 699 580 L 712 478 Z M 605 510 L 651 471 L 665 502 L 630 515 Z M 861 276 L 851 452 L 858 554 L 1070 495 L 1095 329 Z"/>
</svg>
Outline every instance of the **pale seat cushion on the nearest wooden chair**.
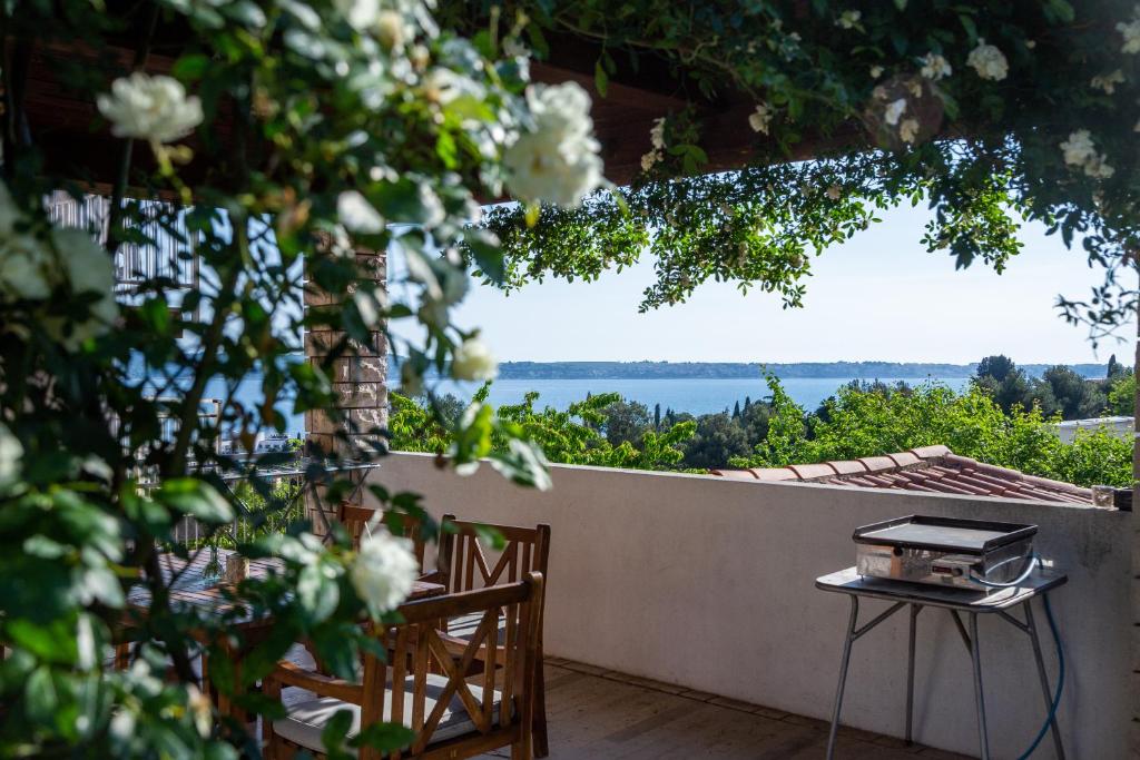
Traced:
<svg viewBox="0 0 1140 760">
<path fill-rule="evenodd" d="M 439 697 L 442 695 L 446 686 L 446 676 L 427 673 L 427 698 L 424 708 L 424 719 L 431 716 L 432 711 L 435 709 L 435 703 L 439 701 Z M 475 701 L 481 704 L 483 690 L 471 684 L 467 685 L 467 688 L 471 690 L 472 696 L 475 697 Z M 413 676 L 408 676 L 405 679 L 404 686 L 404 725 L 408 727 L 410 727 L 412 724 L 412 696 L 414 689 L 415 684 Z M 497 724 L 499 713 L 499 693 L 497 690 L 495 692 L 492 704 L 491 722 Z M 325 726 L 328 725 L 328 721 L 332 720 L 333 716 L 340 710 L 348 710 L 352 713 L 352 727 L 348 733 L 348 738 L 352 738 L 360 733 L 360 706 L 341 702 L 340 700 L 329 696 L 306 700 L 303 702 L 286 705 L 286 717 L 274 721 L 274 733 L 293 744 L 298 744 L 317 752 L 324 752 L 325 745 L 320 741 L 320 734 L 325 730 Z M 391 716 L 392 692 L 391 688 L 389 688 L 388 694 L 384 697 L 383 719 L 385 721 L 391 720 Z M 435 742 L 443 742 L 475 730 L 478 730 L 475 728 L 475 724 L 471 720 L 471 716 L 467 714 L 466 708 L 463 705 L 463 701 L 459 698 L 458 694 L 453 694 L 450 703 L 443 711 L 443 717 L 440 718 L 439 726 L 437 726 L 435 730 L 432 732 L 430 743 L 433 744 Z M 345 749 L 352 754 L 356 754 L 356 750 L 353 747 Z"/>
</svg>

